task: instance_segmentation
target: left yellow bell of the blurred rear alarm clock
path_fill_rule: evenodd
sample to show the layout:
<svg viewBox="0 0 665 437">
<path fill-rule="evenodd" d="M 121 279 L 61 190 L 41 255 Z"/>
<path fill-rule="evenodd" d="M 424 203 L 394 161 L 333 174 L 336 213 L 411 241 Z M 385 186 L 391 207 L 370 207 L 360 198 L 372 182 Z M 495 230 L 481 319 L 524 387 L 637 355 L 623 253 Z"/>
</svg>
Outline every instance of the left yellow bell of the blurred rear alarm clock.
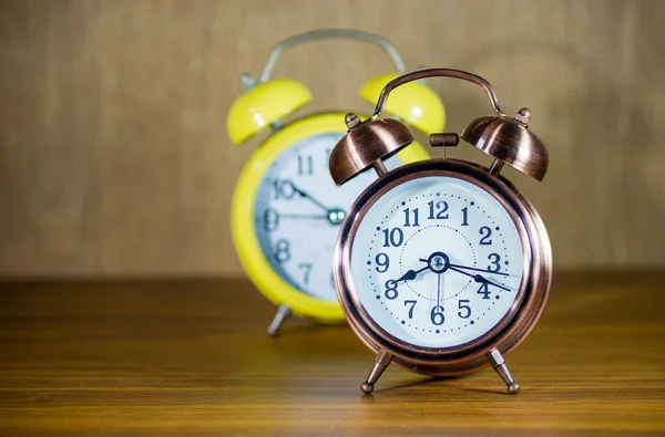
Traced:
<svg viewBox="0 0 665 437">
<path fill-rule="evenodd" d="M 311 93 L 299 82 L 258 82 L 231 106 L 226 117 L 228 136 L 234 144 L 241 144 L 310 101 Z"/>
</svg>

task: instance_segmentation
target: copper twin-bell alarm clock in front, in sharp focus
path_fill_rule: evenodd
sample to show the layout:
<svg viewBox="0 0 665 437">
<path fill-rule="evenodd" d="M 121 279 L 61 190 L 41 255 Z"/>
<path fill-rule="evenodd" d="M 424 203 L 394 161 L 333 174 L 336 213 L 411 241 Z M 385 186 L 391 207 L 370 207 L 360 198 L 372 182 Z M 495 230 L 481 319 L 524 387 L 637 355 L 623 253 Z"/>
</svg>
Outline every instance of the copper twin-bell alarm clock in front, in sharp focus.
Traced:
<svg viewBox="0 0 665 437">
<path fill-rule="evenodd" d="M 397 119 L 381 118 L 390 92 L 430 76 L 484 89 L 495 115 L 474 119 L 458 136 L 430 135 L 431 146 L 459 138 L 494 158 L 490 168 L 453 159 L 405 164 L 383 159 L 413 142 Z M 346 116 L 349 132 L 330 154 L 341 185 L 372 169 L 379 178 L 356 199 L 336 243 L 335 284 L 356 334 L 376 353 L 364 393 L 396 363 L 419 373 L 460 375 L 491 365 L 515 394 L 503 355 L 538 322 L 552 278 L 552 252 L 535 208 L 500 175 L 504 164 L 542 180 L 544 144 L 529 131 L 531 112 L 501 112 L 490 83 L 474 74 L 428 69 L 382 90 L 375 114 Z"/>
</svg>

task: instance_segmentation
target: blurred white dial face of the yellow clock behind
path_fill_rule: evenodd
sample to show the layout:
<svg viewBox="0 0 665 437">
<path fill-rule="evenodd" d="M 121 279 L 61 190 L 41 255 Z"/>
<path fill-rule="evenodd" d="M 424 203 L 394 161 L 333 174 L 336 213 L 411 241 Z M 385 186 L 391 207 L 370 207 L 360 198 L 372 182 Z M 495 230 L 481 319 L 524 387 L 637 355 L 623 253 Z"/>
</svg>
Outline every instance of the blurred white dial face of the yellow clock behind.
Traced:
<svg viewBox="0 0 665 437">
<path fill-rule="evenodd" d="M 314 135 L 287 147 L 263 175 L 254 202 L 254 225 L 270 267 L 297 290 L 337 301 L 332 253 L 347 209 L 376 178 L 365 171 L 337 187 L 328 158 L 342 133 Z M 386 162 L 400 165 L 398 157 Z"/>
</svg>

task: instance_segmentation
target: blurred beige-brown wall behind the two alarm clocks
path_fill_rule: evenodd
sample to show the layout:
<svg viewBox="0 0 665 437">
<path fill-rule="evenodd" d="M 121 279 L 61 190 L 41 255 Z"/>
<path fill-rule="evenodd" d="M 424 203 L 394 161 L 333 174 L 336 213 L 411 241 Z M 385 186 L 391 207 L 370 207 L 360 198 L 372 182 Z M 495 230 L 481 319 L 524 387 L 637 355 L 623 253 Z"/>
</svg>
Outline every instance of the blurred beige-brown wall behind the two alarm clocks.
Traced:
<svg viewBox="0 0 665 437">
<path fill-rule="evenodd" d="M 470 70 L 549 146 L 540 210 L 557 269 L 665 266 L 665 2 L 484 0 L 0 1 L 0 275 L 239 275 L 228 215 L 256 138 L 233 147 L 238 74 L 295 33 L 390 39 L 409 67 Z M 390 70 L 348 41 L 287 52 L 276 76 L 369 111 Z M 451 80 L 448 131 L 488 114 Z M 489 160 L 469 146 L 449 156 Z"/>
</svg>

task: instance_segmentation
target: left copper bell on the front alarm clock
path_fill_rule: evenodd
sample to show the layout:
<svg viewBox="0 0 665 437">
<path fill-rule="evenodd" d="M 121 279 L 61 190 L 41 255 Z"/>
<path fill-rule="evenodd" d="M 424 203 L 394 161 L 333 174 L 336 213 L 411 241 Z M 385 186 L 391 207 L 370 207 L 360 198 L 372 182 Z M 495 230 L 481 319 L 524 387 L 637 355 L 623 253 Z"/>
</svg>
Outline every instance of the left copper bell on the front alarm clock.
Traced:
<svg viewBox="0 0 665 437">
<path fill-rule="evenodd" d="M 369 167 L 383 169 L 388 159 L 413 142 L 413 134 L 401 122 L 393 118 L 370 117 L 365 122 L 356 114 L 345 117 L 348 134 L 330 153 L 330 175 L 335 184 L 341 185 Z"/>
</svg>

